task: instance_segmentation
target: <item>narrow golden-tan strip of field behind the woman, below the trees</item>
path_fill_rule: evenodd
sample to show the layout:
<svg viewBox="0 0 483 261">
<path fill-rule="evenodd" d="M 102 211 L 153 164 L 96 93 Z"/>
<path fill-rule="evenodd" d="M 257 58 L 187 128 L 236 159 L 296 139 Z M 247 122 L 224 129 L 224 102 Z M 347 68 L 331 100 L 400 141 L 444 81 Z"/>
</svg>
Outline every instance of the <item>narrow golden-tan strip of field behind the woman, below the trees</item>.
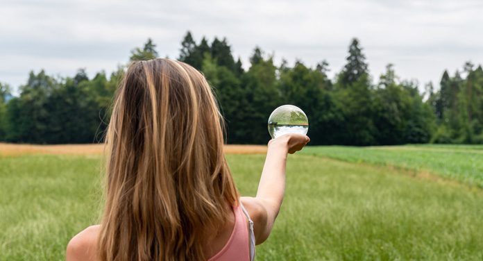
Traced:
<svg viewBox="0 0 483 261">
<path fill-rule="evenodd" d="M 103 144 L 62 144 L 62 145 L 31 145 L 0 143 L 0 155 L 101 155 Z M 227 154 L 264 154 L 264 145 L 225 145 Z"/>
</svg>

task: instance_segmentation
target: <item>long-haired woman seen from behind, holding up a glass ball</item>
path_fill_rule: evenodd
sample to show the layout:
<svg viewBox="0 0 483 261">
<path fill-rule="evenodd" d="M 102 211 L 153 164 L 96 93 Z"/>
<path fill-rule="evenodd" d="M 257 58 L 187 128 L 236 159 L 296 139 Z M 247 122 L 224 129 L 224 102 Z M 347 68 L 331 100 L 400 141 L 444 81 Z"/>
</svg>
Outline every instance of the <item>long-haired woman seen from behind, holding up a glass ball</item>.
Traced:
<svg viewBox="0 0 483 261">
<path fill-rule="evenodd" d="M 168 59 L 130 65 L 105 140 L 101 224 L 71 239 L 67 260 L 253 260 L 280 210 L 287 153 L 309 138 L 271 140 L 257 196 L 240 198 L 222 124 L 193 67 Z"/>
</svg>

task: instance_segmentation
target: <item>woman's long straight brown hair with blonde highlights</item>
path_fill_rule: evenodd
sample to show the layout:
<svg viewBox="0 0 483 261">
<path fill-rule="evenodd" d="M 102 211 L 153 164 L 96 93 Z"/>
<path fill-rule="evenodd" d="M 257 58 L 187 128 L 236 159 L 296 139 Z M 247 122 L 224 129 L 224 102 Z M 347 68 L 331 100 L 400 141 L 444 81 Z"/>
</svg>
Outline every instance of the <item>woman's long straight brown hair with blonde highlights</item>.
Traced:
<svg viewBox="0 0 483 261">
<path fill-rule="evenodd" d="M 115 96 L 105 144 L 101 260 L 203 260 L 238 192 L 210 85 L 176 60 L 134 62 Z"/>
</svg>

